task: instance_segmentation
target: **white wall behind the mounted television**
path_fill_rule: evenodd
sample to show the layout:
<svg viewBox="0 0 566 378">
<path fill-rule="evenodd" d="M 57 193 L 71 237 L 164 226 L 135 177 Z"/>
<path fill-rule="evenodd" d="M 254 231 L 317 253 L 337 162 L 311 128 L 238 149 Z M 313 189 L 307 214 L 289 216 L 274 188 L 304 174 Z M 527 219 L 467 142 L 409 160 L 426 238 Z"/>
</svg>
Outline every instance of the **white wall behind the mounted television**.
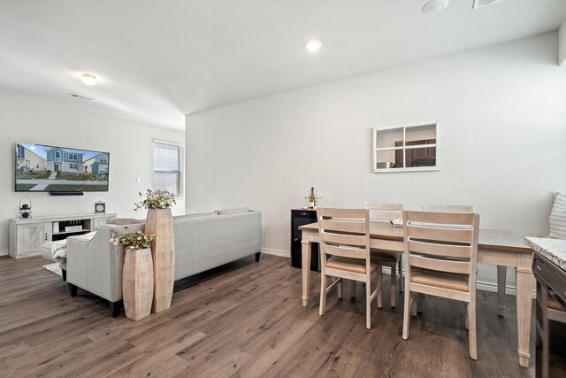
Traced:
<svg viewBox="0 0 566 378">
<path fill-rule="evenodd" d="M 79 101 L 79 100 L 77 100 Z M 19 198 L 32 200 L 32 216 L 93 213 L 96 201 L 106 203 L 106 212 L 145 218 L 134 212 L 139 191 L 152 186 L 152 139 L 184 143 L 185 135 L 162 127 L 87 112 L 66 102 L 0 92 L 0 254 L 7 254 L 8 220 L 19 216 Z M 16 142 L 58 145 L 110 152 L 110 190 L 81 197 L 51 197 L 49 193 L 14 191 Z M 137 183 L 136 177 L 142 182 Z M 178 201 L 175 213 L 184 213 Z"/>
</svg>

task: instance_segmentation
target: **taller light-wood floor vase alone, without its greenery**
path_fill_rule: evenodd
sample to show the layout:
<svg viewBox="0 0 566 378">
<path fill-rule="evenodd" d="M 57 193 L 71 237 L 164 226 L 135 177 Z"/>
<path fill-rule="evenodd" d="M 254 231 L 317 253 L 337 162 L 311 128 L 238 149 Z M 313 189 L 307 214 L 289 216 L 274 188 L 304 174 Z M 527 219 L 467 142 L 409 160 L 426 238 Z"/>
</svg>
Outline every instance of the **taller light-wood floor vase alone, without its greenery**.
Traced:
<svg viewBox="0 0 566 378">
<path fill-rule="evenodd" d="M 175 235 L 171 209 L 148 209 L 145 233 L 156 235 L 151 242 L 154 277 L 151 311 L 162 312 L 171 307 L 175 280 Z"/>
</svg>

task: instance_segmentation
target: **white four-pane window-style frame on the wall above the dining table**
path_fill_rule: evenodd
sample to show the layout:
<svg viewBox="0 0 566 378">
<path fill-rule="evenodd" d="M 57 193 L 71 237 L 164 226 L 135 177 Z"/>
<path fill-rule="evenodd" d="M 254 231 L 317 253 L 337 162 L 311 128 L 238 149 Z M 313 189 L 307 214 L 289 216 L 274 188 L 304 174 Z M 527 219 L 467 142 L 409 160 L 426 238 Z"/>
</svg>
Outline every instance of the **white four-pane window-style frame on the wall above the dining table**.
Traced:
<svg viewBox="0 0 566 378">
<path fill-rule="evenodd" d="M 411 127 L 424 127 L 424 126 L 433 126 L 434 133 L 435 133 L 435 140 L 436 143 L 429 143 L 429 144 L 415 144 L 415 145 L 407 145 L 407 129 Z M 400 147 L 378 147 L 378 133 L 379 131 L 386 131 L 386 130 L 394 130 L 394 129 L 402 129 L 403 135 L 403 145 Z M 372 172 L 374 174 L 391 174 L 395 172 L 426 172 L 426 171 L 438 171 L 439 170 L 439 121 L 438 120 L 424 120 L 419 122 L 411 122 L 411 123 L 404 123 L 404 124 L 397 124 L 397 125 L 387 125 L 387 126 L 378 126 L 373 127 L 372 130 L 373 134 L 373 150 L 372 150 Z M 410 141 L 409 141 L 410 142 Z M 420 148 L 432 148 L 436 149 L 436 157 L 435 157 L 435 165 L 434 166 L 404 166 L 406 163 L 406 150 L 415 150 Z M 400 168 L 378 168 L 378 152 L 379 151 L 386 151 L 386 150 L 403 150 L 403 166 Z"/>
</svg>

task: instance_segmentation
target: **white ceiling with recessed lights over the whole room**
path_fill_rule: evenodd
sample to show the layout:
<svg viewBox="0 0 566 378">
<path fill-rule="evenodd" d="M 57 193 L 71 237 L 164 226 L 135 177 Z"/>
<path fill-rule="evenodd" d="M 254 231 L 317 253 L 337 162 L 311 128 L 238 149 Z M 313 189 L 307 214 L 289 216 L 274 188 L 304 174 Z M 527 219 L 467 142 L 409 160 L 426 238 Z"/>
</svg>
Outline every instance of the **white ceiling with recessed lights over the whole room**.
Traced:
<svg viewBox="0 0 566 378">
<path fill-rule="evenodd" d="M 565 0 L 4 0 L 0 90 L 156 126 L 184 115 L 556 30 Z M 302 48 L 310 38 L 317 55 Z M 99 77 L 95 87 L 80 73 Z M 95 98 L 85 102 L 75 92 Z"/>
</svg>

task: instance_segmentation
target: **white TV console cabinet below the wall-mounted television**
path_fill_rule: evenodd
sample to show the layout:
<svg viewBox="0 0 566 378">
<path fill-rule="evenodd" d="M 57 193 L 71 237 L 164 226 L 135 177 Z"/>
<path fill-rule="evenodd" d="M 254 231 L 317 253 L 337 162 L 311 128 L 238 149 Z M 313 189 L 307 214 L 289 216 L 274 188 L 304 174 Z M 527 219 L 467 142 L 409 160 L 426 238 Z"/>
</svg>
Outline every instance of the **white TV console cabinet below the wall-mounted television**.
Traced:
<svg viewBox="0 0 566 378">
<path fill-rule="evenodd" d="M 23 258 L 40 254 L 42 243 L 96 231 L 116 214 L 83 214 L 10 220 L 10 256 Z"/>
</svg>

